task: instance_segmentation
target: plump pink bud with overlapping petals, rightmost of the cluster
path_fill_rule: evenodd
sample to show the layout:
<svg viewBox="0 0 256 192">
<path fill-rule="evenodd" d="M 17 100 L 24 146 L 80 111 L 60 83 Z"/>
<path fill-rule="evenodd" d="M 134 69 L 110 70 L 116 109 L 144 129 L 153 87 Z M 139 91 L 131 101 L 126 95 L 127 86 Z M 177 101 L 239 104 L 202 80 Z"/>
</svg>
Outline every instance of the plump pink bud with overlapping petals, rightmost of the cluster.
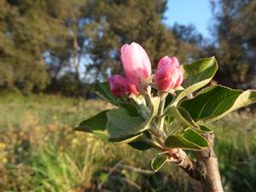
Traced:
<svg viewBox="0 0 256 192">
<path fill-rule="evenodd" d="M 161 91 L 177 88 L 183 82 L 183 71 L 176 57 L 160 59 L 155 73 L 155 84 Z"/>
</svg>

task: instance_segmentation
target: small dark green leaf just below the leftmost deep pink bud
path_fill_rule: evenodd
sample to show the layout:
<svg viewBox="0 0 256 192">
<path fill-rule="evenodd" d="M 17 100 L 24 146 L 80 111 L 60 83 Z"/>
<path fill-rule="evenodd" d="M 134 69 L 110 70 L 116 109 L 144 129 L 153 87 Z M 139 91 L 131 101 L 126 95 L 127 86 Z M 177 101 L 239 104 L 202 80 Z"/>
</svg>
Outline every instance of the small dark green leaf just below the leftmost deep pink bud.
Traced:
<svg viewBox="0 0 256 192">
<path fill-rule="evenodd" d="M 115 96 L 113 96 L 113 94 L 111 93 L 108 82 L 102 83 L 102 82 L 96 80 L 94 89 L 96 91 L 96 94 L 98 96 L 101 96 L 102 99 L 105 99 L 106 101 L 111 102 L 115 105 L 120 102 L 120 100 L 118 98 L 116 98 Z"/>
</svg>

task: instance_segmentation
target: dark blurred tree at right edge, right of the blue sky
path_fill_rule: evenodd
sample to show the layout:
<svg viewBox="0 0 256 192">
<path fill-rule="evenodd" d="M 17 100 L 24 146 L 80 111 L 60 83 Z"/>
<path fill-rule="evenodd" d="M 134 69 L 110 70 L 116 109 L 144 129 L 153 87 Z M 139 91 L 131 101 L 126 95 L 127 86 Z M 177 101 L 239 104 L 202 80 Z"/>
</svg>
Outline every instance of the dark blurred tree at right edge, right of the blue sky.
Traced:
<svg viewBox="0 0 256 192">
<path fill-rule="evenodd" d="M 216 22 L 212 31 L 220 64 L 218 82 L 240 89 L 255 88 L 256 2 L 212 1 L 212 9 Z"/>
</svg>

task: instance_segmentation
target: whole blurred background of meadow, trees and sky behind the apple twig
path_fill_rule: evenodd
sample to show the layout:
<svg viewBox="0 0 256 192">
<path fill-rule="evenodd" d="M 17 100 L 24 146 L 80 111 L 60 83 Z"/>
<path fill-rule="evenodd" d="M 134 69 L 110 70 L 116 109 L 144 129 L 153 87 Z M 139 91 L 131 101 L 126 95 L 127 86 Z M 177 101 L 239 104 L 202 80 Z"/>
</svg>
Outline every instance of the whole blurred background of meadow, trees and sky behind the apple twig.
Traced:
<svg viewBox="0 0 256 192">
<path fill-rule="evenodd" d="M 200 191 L 154 151 L 74 132 L 111 108 L 96 79 L 122 73 L 135 41 L 153 67 L 215 56 L 214 84 L 256 88 L 255 0 L 0 0 L 0 191 Z M 253 108 L 212 124 L 225 191 L 256 191 Z"/>
</svg>

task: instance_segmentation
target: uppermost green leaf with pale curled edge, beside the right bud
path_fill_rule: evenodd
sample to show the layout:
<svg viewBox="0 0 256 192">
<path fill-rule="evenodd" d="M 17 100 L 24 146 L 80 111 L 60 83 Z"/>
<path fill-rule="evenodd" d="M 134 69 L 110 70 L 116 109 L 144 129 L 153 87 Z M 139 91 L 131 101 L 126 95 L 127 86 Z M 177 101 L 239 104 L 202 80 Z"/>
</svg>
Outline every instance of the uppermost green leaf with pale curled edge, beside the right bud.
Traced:
<svg viewBox="0 0 256 192">
<path fill-rule="evenodd" d="M 208 84 L 217 72 L 217 69 L 218 64 L 214 57 L 201 59 L 189 65 L 183 65 L 183 87 L 185 89 L 178 93 L 173 105 L 177 105 L 183 97 Z"/>
</svg>

